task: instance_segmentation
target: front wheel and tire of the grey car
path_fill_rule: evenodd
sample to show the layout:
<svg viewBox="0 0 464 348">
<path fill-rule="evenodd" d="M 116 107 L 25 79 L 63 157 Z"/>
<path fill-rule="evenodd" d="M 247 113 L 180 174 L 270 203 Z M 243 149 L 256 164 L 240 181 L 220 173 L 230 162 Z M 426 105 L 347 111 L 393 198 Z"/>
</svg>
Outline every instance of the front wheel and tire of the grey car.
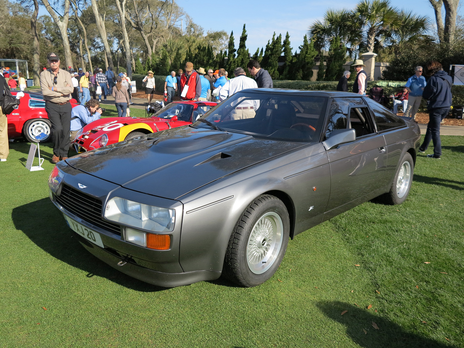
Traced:
<svg viewBox="0 0 464 348">
<path fill-rule="evenodd" d="M 263 284 L 277 271 L 290 236 L 287 208 L 277 197 L 258 196 L 232 232 L 223 274 L 245 287 Z"/>
</svg>

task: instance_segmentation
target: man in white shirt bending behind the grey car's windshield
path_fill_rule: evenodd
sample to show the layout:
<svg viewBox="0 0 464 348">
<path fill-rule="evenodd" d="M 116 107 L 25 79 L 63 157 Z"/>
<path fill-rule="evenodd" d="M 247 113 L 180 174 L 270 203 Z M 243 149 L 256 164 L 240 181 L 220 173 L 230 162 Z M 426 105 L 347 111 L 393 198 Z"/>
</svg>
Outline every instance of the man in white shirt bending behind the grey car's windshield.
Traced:
<svg viewBox="0 0 464 348">
<path fill-rule="evenodd" d="M 245 70 L 238 67 L 234 70 L 235 78 L 230 79 L 222 86 L 219 90 L 219 101 L 222 102 L 232 94 L 237 93 L 240 90 L 246 90 L 247 88 L 258 88 L 256 81 L 250 77 L 246 77 Z M 230 117 L 232 120 L 241 120 L 244 118 L 253 118 L 255 116 L 255 110 L 258 109 L 259 102 L 257 100 L 245 100 L 242 103 L 238 101 L 238 106 L 231 111 Z"/>
</svg>

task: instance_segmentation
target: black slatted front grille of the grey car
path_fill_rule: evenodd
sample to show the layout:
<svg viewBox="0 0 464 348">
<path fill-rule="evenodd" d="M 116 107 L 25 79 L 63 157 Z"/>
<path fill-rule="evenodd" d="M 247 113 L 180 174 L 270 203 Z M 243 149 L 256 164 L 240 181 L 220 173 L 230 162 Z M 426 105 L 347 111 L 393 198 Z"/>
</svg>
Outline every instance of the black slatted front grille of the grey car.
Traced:
<svg viewBox="0 0 464 348">
<path fill-rule="evenodd" d="M 61 194 L 56 196 L 56 200 L 58 204 L 68 212 L 87 221 L 90 225 L 100 227 L 103 230 L 115 233 L 118 236 L 121 235 L 119 225 L 102 219 L 101 200 L 67 185 L 63 185 Z"/>
</svg>

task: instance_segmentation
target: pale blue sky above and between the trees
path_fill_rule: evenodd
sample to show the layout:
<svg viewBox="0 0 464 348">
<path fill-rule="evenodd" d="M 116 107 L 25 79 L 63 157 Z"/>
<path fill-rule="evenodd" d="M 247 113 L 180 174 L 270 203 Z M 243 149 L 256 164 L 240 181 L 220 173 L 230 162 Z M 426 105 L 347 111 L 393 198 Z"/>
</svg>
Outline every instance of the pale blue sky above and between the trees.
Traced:
<svg viewBox="0 0 464 348">
<path fill-rule="evenodd" d="M 328 8 L 354 8 L 358 1 L 345 0 L 176 0 L 179 6 L 193 18 L 193 21 L 207 30 L 233 30 L 235 46 L 246 24 L 248 38 L 246 47 L 253 54 L 258 47 L 264 47 L 275 31 L 278 35 L 288 31 L 293 51 L 303 43 L 308 27 L 317 19 L 322 19 Z M 392 6 L 428 16 L 435 22 L 433 8 L 427 0 L 390 0 Z M 444 11 L 443 11 L 444 12 Z M 221 14 L 222 13 L 222 14 Z M 463 15 L 459 8 L 458 15 Z"/>
</svg>

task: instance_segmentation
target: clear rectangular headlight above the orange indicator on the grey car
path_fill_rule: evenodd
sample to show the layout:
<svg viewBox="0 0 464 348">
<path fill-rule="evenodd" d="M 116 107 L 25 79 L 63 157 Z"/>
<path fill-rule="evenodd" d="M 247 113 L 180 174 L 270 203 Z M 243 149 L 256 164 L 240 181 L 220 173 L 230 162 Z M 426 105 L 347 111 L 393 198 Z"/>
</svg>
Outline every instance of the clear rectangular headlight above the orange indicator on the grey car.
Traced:
<svg viewBox="0 0 464 348">
<path fill-rule="evenodd" d="M 114 197 L 106 205 L 105 218 L 143 230 L 171 232 L 174 230 L 175 210 Z"/>
</svg>

